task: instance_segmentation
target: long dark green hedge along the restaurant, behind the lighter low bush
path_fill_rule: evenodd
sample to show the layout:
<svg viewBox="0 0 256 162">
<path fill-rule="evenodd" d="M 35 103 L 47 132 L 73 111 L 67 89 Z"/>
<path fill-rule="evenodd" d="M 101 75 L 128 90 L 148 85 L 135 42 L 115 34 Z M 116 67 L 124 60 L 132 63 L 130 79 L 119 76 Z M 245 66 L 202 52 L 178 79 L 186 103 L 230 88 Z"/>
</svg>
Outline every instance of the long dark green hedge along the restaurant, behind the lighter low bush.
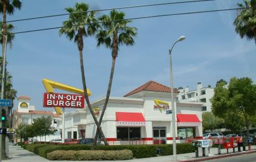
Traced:
<svg viewBox="0 0 256 162">
<path fill-rule="evenodd" d="M 47 153 L 56 150 L 90 150 L 92 146 L 86 144 L 29 144 L 27 149 L 46 158 Z M 172 144 L 96 146 L 94 149 L 105 151 L 129 149 L 133 152 L 133 157 L 137 159 L 157 156 L 157 149 L 161 149 L 160 155 L 172 155 Z M 195 152 L 195 148 L 190 143 L 177 143 L 176 149 L 177 154 Z"/>
</svg>

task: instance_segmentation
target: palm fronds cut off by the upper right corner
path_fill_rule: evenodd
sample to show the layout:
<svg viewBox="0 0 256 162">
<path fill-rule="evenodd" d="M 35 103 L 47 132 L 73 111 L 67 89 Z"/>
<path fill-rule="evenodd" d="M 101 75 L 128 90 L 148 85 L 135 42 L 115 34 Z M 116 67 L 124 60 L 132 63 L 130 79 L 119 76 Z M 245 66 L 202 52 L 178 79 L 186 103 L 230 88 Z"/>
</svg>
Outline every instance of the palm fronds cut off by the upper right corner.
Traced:
<svg viewBox="0 0 256 162">
<path fill-rule="evenodd" d="M 245 6 L 242 3 L 237 3 L 240 9 L 240 13 L 234 20 L 234 26 L 236 26 L 236 32 L 243 38 L 246 36 L 248 40 L 255 39 L 256 44 L 256 1 L 255 0 L 243 0 Z"/>
</svg>

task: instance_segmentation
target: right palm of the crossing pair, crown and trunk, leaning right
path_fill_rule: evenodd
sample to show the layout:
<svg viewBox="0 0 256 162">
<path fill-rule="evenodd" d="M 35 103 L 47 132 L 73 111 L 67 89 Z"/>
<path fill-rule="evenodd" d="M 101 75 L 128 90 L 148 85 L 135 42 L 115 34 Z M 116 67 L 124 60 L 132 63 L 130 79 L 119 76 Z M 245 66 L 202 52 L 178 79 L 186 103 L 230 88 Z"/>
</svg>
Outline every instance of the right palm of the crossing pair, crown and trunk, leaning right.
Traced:
<svg viewBox="0 0 256 162">
<path fill-rule="evenodd" d="M 102 22 L 102 30 L 100 30 L 100 32 L 98 32 L 96 36 L 98 42 L 97 47 L 100 47 L 101 44 L 104 44 L 106 48 L 110 48 L 112 50 L 112 67 L 110 71 L 106 99 L 99 121 L 99 123 L 101 124 L 106 107 L 108 105 L 110 91 L 112 88 L 115 60 L 118 56 L 119 45 L 134 45 L 134 38 L 137 35 L 137 28 L 127 26 L 127 24 L 131 22 L 131 20 L 125 20 L 125 13 L 121 11 L 118 12 L 116 10 L 112 10 L 110 11 L 109 15 L 102 15 L 99 19 Z M 94 137 L 94 146 L 96 144 L 97 136 L 98 130 L 96 131 L 96 135 Z"/>
</svg>

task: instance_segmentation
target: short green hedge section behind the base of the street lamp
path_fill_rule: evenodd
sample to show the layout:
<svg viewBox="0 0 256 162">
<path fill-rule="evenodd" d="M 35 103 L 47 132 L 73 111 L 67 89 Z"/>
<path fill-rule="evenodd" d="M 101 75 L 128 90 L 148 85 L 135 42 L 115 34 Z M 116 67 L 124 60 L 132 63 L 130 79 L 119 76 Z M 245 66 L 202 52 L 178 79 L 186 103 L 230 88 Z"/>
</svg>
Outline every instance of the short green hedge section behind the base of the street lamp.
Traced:
<svg viewBox="0 0 256 162">
<path fill-rule="evenodd" d="M 159 144 L 156 145 L 156 147 L 162 150 L 160 155 L 166 156 L 173 154 L 172 144 Z M 177 143 L 176 152 L 177 154 L 195 152 L 195 147 L 193 147 L 191 143 Z"/>
</svg>

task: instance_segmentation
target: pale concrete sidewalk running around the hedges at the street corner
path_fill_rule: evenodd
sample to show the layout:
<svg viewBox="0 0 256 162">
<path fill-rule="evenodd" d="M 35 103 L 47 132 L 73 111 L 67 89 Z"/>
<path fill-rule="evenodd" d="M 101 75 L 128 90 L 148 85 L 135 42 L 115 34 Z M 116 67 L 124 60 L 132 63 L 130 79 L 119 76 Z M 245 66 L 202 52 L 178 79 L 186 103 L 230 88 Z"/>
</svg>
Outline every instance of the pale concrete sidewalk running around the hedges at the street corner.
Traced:
<svg viewBox="0 0 256 162">
<path fill-rule="evenodd" d="M 256 153 L 256 147 L 252 146 L 252 149 L 250 151 L 245 152 L 236 152 L 233 153 L 233 149 L 229 149 L 229 152 L 232 153 L 226 153 L 226 149 L 221 149 L 221 155 L 217 155 L 218 149 L 212 148 L 212 156 L 202 157 L 202 151 L 199 149 L 199 156 L 195 157 L 195 152 L 193 153 L 184 153 L 177 155 L 177 161 L 204 161 L 204 160 L 211 160 L 211 159 L 219 159 L 229 156 L 237 156 L 237 155 L 243 155 L 247 153 Z M 246 147 L 246 150 L 248 148 Z M 206 155 L 208 155 L 208 151 L 206 150 Z M 161 161 L 161 162 L 171 162 L 174 161 L 174 157 L 172 155 L 170 156 L 158 156 L 158 157 L 150 157 L 150 158 L 144 158 L 144 159 L 132 159 L 132 160 L 123 160 L 127 162 L 153 162 L 153 161 Z M 44 159 L 43 157 L 40 157 L 38 155 L 35 155 L 34 153 L 27 151 L 26 149 L 21 148 L 20 146 L 9 146 L 9 159 L 2 160 L 3 162 L 46 162 L 49 161 L 47 159 Z M 123 162 L 122 161 L 122 162 Z M 69 161 L 69 162 L 77 162 L 77 161 Z M 90 162 L 98 162 L 98 161 L 90 161 Z M 105 161 L 110 162 L 110 161 Z M 113 161 L 112 161 L 113 162 Z M 121 161 L 115 161 L 115 162 L 121 162 Z"/>
</svg>

